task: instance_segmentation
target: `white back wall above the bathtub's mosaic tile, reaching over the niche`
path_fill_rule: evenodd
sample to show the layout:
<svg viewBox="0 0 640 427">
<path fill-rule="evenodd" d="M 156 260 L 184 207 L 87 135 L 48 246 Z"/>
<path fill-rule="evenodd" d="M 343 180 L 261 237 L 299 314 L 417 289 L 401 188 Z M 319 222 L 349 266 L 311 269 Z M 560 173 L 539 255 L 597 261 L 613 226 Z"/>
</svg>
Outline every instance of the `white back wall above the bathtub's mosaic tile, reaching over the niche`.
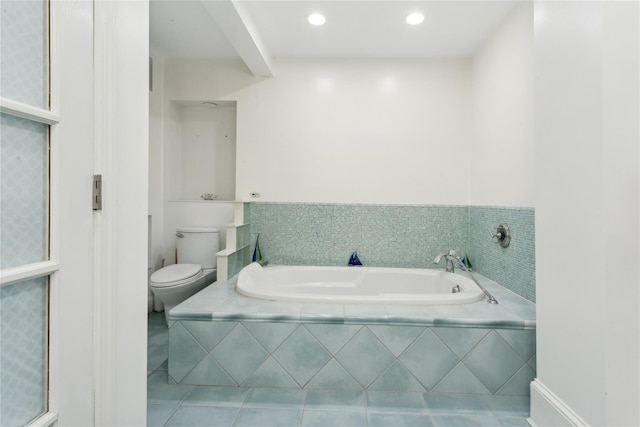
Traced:
<svg viewBox="0 0 640 427">
<path fill-rule="evenodd" d="M 237 100 L 240 200 L 468 204 L 469 63 L 167 61 L 166 98 Z"/>
</svg>

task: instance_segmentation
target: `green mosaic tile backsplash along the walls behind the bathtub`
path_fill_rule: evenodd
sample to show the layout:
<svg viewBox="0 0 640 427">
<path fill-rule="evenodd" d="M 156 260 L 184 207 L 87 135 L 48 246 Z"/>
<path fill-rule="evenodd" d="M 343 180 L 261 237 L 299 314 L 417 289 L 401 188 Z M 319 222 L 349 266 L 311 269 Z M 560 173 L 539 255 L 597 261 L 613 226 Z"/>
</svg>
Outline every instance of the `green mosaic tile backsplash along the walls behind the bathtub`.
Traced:
<svg viewBox="0 0 640 427">
<path fill-rule="evenodd" d="M 251 203 L 245 215 L 251 251 L 260 233 L 272 264 L 347 265 L 357 250 L 367 266 L 442 268 L 433 259 L 455 249 L 481 274 L 535 302 L 533 208 Z M 487 232 L 502 222 L 512 231 L 506 249 Z"/>
</svg>

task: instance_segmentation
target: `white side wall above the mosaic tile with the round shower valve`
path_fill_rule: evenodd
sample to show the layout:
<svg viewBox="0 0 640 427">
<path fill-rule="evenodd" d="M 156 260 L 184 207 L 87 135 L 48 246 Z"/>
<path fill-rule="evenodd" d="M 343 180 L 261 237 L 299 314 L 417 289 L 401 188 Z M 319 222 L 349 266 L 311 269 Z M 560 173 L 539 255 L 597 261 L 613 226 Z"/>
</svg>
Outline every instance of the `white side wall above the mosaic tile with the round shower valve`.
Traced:
<svg viewBox="0 0 640 427">
<path fill-rule="evenodd" d="M 470 204 L 532 207 L 533 3 L 520 3 L 471 62 Z"/>
</svg>

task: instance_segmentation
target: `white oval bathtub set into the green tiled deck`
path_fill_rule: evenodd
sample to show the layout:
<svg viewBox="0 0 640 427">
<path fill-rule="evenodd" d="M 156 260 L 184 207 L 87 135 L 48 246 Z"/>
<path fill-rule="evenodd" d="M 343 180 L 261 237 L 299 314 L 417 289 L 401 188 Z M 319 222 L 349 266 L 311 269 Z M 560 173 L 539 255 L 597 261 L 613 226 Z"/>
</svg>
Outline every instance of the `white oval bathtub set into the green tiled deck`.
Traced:
<svg viewBox="0 0 640 427">
<path fill-rule="evenodd" d="M 458 285 L 460 292 L 454 293 Z M 302 302 L 443 305 L 484 298 L 469 278 L 442 270 L 382 267 L 300 267 L 249 264 L 240 271 L 243 295 Z"/>
</svg>

